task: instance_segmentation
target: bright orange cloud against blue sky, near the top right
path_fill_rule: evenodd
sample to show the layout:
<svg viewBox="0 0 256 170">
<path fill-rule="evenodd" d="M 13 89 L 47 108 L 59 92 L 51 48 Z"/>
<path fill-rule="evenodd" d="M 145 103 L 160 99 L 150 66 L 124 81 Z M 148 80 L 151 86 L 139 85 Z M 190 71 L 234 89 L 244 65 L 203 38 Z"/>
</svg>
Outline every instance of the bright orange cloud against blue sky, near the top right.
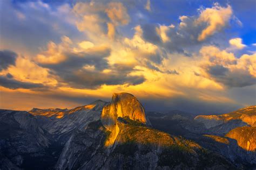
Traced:
<svg viewBox="0 0 256 170">
<path fill-rule="evenodd" d="M 215 3 L 212 8 L 201 10 L 196 24 L 206 23 L 207 26 L 198 36 L 198 40 L 203 41 L 207 37 L 212 36 L 216 31 L 220 31 L 230 20 L 232 13 L 233 11 L 230 5 L 224 8 L 218 3 Z"/>
</svg>

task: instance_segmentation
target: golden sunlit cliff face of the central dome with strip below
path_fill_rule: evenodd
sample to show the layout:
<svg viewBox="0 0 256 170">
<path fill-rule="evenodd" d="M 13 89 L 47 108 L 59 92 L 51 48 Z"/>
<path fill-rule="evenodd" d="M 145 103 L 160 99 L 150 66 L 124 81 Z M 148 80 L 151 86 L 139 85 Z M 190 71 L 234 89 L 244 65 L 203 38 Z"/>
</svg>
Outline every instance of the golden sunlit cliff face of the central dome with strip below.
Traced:
<svg viewBox="0 0 256 170">
<path fill-rule="evenodd" d="M 117 125 L 118 117 L 127 117 L 133 121 L 150 124 L 146 120 L 146 115 L 142 104 L 129 93 L 114 93 L 112 101 L 105 105 L 101 115 L 102 124 L 111 132 L 106 146 L 112 145 L 119 133 Z"/>
</svg>

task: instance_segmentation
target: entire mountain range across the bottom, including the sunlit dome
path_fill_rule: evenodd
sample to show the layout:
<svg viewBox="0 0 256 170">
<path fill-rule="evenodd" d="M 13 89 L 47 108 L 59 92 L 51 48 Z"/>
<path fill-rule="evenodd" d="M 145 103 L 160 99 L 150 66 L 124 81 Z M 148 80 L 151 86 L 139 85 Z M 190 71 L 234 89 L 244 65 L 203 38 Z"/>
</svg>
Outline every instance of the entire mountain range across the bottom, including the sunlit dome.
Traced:
<svg viewBox="0 0 256 170">
<path fill-rule="evenodd" d="M 146 112 L 131 94 L 74 109 L 0 110 L 0 169 L 255 169 L 256 106 Z"/>
</svg>

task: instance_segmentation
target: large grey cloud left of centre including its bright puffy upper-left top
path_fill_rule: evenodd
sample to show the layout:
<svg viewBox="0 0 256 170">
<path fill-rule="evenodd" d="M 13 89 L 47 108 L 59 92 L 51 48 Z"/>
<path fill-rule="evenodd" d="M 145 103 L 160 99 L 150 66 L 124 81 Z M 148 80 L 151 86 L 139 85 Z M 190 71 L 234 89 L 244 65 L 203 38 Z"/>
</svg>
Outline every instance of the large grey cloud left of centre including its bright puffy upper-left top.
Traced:
<svg viewBox="0 0 256 170">
<path fill-rule="evenodd" d="M 66 41 L 69 43 L 66 44 Z M 87 41 L 82 41 L 78 45 L 82 48 L 79 46 L 72 48 L 72 42 L 64 37 L 63 42 L 55 44 L 54 48 L 49 45 L 49 49 L 42 52 L 44 60 L 41 54 L 38 55 L 38 65 L 49 69 L 50 74 L 56 77 L 59 84 L 73 88 L 97 89 L 104 84 L 137 85 L 145 81 L 142 75 L 130 75 L 135 70 L 134 65 L 118 63 L 110 65 L 107 60 L 111 54 L 109 47 L 92 46 Z M 84 48 L 83 45 L 91 47 Z M 59 56 L 63 56 L 61 60 L 57 60 Z"/>
</svg>

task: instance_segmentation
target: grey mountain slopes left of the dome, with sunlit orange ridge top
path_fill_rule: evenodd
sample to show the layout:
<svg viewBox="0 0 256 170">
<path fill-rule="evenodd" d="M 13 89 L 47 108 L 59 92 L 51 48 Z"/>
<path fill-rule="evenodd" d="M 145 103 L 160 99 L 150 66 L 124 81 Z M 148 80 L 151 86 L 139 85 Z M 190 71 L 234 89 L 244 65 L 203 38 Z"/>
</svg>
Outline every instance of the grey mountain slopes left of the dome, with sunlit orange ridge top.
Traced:
<svg viewBox="0 0 256 170">
<path fill-rule="evenodd" d="M 99 100 L 70 110 L 0 110 L 0 169 L 53 167 L 72 133 L 98 121 L 105 104 Z"/>
</svg>

